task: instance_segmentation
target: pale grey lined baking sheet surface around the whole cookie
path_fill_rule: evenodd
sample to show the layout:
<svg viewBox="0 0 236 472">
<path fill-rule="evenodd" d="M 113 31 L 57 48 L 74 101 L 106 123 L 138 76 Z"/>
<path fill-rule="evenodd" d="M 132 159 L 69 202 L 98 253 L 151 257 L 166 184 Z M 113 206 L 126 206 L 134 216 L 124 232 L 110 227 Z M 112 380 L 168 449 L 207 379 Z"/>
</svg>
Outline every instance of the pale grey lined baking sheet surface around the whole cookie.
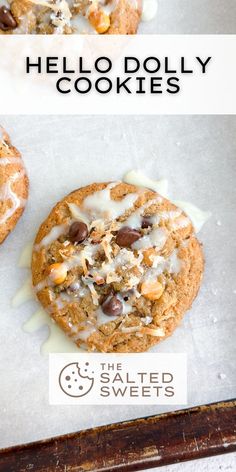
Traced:
<svg viewBox="0 0 236 472">
<path fill-rule="evenodd" d="M 156 350 L 187 352 L 189 406 L 235 396 L 236 117 L 0 116 L 0 123 L 22 152 L 31 183 L 25 214 L 0 246 L 0 447 L 173 409 L 49 406 L 48 362 L 40 354 L 47 328 L 24 333 L 36 303 L 11 306 L 28 276 L 17 267 L 19 256 L 52 205 L 130 169 L 168 178 L 171 198 L 212 212 L 199 234 L 206 256 L 199 296 Z"/>
</svg>

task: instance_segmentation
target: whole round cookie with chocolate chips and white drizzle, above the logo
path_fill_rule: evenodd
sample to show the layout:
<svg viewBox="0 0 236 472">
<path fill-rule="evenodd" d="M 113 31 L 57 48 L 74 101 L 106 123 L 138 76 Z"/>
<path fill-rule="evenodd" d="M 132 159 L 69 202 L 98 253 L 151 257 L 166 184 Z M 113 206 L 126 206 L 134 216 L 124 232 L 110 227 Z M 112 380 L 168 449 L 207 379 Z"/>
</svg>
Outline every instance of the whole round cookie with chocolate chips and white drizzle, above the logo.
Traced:
<svg viewBox="0 0 236 472">
<path fill-rule="evenodd" d="M 159 194 L 94 183 L 59 202 L 36 236 L 43 307 L 78 346 L 141 352 L 169 336 L 197 295 L 203 254 L 189 218 Z"/>
</svg>

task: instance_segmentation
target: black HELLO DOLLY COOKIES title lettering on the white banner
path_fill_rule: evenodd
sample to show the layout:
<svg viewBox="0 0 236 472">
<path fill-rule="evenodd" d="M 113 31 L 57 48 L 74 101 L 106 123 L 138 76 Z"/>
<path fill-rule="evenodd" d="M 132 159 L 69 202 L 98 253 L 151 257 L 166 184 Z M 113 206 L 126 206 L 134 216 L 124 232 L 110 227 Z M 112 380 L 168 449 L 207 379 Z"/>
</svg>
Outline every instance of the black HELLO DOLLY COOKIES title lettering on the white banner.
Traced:
<svg viewBox="0 0 236 472">
<path fill-rule="evenodd" d="M 25 58 L 25 72 L 55 76 L 55 87 L 61 94 L 178 94 L 181 78 L 204 76 L 212 57 L 186 58 L 125 56 L 112 60 L 107 56 L 87 57 L 38 56 Z M 194 92 L 194 91 L 193 91 Z"/>
</svg>

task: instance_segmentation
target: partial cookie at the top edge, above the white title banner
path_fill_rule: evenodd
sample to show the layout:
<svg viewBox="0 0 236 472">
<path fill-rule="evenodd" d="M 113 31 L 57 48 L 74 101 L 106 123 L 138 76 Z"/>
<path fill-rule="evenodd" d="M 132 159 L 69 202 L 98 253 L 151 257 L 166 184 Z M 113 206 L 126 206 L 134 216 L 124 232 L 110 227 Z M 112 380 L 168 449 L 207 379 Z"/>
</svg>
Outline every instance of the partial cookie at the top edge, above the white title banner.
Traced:
<svg viewBox="0 0 236 472">
<path fill-rule="evenodd" d="M 1 34 L 135 34 L 142 0 L 6 0 Z"/>
</svg>

